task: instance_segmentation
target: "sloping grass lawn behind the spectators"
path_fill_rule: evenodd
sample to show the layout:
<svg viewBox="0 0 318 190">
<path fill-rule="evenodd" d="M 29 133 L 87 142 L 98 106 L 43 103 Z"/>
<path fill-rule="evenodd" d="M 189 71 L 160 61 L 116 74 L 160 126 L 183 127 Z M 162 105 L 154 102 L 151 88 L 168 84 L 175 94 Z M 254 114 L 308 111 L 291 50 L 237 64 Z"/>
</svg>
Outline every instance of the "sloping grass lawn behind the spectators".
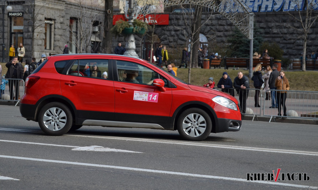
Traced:
<svg viewBox="0 0 318 190">
<path fill-rule="evenodd" d="M 0 63 L 2 66 L 2 76 L 7 73 L 7 68 L 5 66 L 6 63 Z M 24 64 L 23 64 L 24 66 Z M 166 69 L 167 70 L 167 69 Z M 191 68 L 191 84 L 203 86 L 208 83 L 209 77 L 213 77 L 216 85 L 218 81 L 222 77 L 223 72 L 226 71 L 228 75 L 231 77 L 232 82 L 234 78 L 237 76 L 238 71 L 242 71 L 244 75 L 248 76 L 248 71 L 239 69 L 233 70 L 224 68 L 221 69 L 199 69 L 199 68 Z M 188 82 L 188 73 L 189 69 L 178 68 L 177 77 L 182 79 L 185 82 Z M 303 91 L 318 91 L 318 70 L 310 70 L 310 71 L 287 71 L 285 70 L 285 76 L 287 77 L 290 85 L 290 90 L 303 90 Z M 253 82 L 250 80 L 250 88 L 253 87 Z"/>
</svg>

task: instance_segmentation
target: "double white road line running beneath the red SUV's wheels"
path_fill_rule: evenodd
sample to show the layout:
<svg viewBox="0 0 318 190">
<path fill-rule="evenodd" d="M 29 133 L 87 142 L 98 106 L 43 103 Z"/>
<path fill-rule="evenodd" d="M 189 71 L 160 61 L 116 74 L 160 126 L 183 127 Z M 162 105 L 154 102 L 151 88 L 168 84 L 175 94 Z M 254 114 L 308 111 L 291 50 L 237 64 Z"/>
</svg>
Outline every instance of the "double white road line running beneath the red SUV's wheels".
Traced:
<svg viewBox="0 0 318 190">
<path fill-rule="evenodd" d="M 4 131 L 19 131 L 19 132 L 30 132 L 32 130 L 21 130 L 21 129 L 10 129 L 10 128 L 0 128 Z M 39 131 L 37 131 L 39 132 Z M 154 143 L 165 143 L 165 144 L 178 144 L 187 146 L 198 146 L 198 147 L 214 147 L 214 148 L 228 148 L 228 149 L 238 149 L 238 150 L 251 150 L 260 152 L 272 152 L 272 153 L 285 153 L 285 154 L 301 154 L 318 156 L 318 152 L 308 152 L 308 151 L 298 151 L 298 150 L 284 150 L 284 149 L 271 149 L 271 148 L 258 148 L 258 147 L 241 147 L 241 146 L 231 146 L 231 145 L 218 145 L 218 144 L 204 144 L 195 142 L 183 142 L 183 141 L 166 141 L 166 140 L 152 140 L 152 139 L 140 139 L 140 138 L 127 138 L 127 137 L 106 137 L 106 136 L 89 136 L 89 135 L 79 135 L 79 134 L 64 134 L 66 136 L 77 136 L 77 137 L 90 137 L 90 138 L 100 138 L 100 139 L 115 139 L 115 140 L 125 140 L 125 141 L 140 141 L 140 142 L 154 142 Z"/>
</svg>

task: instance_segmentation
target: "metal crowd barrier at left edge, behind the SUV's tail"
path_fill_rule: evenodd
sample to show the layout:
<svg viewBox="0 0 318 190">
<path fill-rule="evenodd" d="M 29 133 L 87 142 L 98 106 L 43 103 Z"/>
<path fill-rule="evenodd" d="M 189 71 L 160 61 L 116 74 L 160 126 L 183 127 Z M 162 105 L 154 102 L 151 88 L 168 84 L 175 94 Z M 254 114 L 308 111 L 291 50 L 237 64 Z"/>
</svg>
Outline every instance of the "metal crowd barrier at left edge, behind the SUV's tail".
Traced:
<svg viewBox="0 0 318 190">
<path fill-rule="evenodd" d="M 20 97 L 24 95 L 24 80 L 0 78 L 0 81 L 1 81 L 0 101 L 17 102 L 15 104 L 15 106 L 17 106 L 17 104 L 20 102 Z M 4 89 L 2 90 L 3 85 L 4 85 Z M 16 85 L 17 85 L 17 89 L 16 89 Z M 18 91 L 17 99 L 16 99 L 16 90 Z"/>
</svg>

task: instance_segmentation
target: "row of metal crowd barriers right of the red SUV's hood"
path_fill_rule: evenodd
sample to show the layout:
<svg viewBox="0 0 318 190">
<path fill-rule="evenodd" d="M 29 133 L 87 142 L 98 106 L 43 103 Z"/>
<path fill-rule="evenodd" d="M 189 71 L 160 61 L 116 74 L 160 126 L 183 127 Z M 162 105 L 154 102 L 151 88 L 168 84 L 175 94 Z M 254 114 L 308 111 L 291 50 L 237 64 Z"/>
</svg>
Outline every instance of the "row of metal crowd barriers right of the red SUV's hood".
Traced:
<svg viewBox="0 0 318 190">
<path fill-rule="evenodd" d="M 215 88 L 221 91 L 221 88 Z M 239 93 L 235 88 L 228 88 L 234 90 L 234 97 L 239 101 Z M 269 116 L 270 120 L 275 121 L 276 117 L 286 119 L 286 118 L 301 118 L 301 119 L 318 119 L 318 92 L 316 91 L 296 91 L 296 90 L 272 90 L 275 92 L 275 108 L 272 107 L 273 97 L 270 96 L 270 100 L 266 100 L 266 93 L 271 94 L 271 90 L 262 91 L 255 88 L 244 89 L 244 91 L 249 90 L 247 99 L 246 99 L 246 111 L 242 113 L 243 109 L 241 107 L 242 115 L 252 115 L 252 121 L 257 116 Z M 281 106 L 281 116 L 278 115 L 278 107 L 276 107 L 276 99 L 280 97 L 277 95 L 281 91 L 286 93 L 286 102 L 283 106 L 286 106 L 286 116 L 284 116 L 284 108 Z M 259 92 L 259 104 L 261 107 L 255 107 L 255 94 Z M 230 94 L 230 93 L 229 93 Z"/>
</svg>

